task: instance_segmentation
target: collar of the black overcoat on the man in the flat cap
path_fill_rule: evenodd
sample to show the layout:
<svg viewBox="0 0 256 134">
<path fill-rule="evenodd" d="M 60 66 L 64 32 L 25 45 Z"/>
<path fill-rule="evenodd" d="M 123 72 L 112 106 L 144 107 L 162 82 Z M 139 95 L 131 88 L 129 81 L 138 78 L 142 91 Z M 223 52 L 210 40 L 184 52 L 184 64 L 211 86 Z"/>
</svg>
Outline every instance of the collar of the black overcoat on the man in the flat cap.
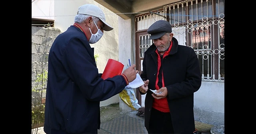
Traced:
<svg viewBox="0 0 256 134">
<path fill-rule="evenodd" d="M 169 53 L 169 55 L 173 55 L 174 53 L 177 52 L 178 49 L 178 40 L 175 37 L 172 37 L 172 49 Z M 145 51 L 145 54 L 153 54 L 156 51 L 156 46 L 153 43 L 148 49 L 147 51 Z"/>
</svg>

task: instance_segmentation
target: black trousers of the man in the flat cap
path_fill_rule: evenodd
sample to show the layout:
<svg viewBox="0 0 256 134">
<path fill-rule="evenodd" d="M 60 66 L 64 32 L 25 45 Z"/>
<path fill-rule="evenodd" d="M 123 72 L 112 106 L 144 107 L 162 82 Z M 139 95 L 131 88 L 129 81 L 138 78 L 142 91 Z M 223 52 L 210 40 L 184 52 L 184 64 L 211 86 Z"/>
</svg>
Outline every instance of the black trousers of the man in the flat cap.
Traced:
<svg viewBox="0 0 256 134">
<path fill-rule="evenodd" d="M 174 134 L 170 112 L 151 110 L 148 134 Z"/>
</svg>

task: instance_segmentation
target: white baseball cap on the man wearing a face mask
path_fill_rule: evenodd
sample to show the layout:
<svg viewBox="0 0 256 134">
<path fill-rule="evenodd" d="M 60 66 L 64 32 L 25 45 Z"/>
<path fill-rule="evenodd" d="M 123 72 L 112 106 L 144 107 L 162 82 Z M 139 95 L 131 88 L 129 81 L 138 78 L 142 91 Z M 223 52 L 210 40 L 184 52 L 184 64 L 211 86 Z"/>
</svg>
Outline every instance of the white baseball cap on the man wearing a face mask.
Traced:
<svg viewBox="0 0 256 134">
<path fill-rule="evenodd" d="M 98 6 L 95 6 L 93 4 L 85 4 L 78 8 L 77 14 L 86 14 L 86 15 L 90 15 L 90 16 L 95 16 L 95 17 L 99 18 L 105 24 L 105 26 L 103 28 L 104 31 L 113 30 L 112 26 L 110 26 L 106 22 L 105 15 L 104 15 L 103 11 Z"/>
</svg>

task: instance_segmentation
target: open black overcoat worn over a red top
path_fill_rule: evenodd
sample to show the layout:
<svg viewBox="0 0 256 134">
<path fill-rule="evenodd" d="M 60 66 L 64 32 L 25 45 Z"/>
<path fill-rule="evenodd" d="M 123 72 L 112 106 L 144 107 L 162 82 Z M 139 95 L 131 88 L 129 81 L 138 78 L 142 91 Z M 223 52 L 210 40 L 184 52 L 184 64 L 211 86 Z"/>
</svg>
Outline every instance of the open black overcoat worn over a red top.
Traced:
<svg viewBox="0 0 256 134">
<path fill-rule="evenodd" d="M 194 124 L 194 92 L 201 86 L 201 72 L 198 58 L 194 49 L 178 45 L 175 37 L 172 38 L 172 48 L 162 62 L 164 85 L 168 90 L 166 96 L 172 117 L 175 134 L 191 134 L 195 130 Z M 156 46 L 152 44 L 145 51 L 142 62 L 143 81 L 149 79 L 148 89 L 155 90 L 157 74 Z M 145 94 L 140 92 L 140 94 Z M 147 91 L 145 98 L 145 127 L 148 130 L 150 113 L 154 98 L 152 92 Z M 161 122 L 159 122 L 161 123 Z"/>
</svg>

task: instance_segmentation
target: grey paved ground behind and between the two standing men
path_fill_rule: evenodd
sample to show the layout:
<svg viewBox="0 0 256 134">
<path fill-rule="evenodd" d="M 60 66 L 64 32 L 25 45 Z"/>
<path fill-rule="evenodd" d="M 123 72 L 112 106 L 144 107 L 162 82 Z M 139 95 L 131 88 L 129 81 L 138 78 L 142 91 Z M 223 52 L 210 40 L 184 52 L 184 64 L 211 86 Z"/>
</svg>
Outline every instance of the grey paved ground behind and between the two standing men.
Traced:
<svg viewBox="0 0 256 134">
<path fill-rule="evenodd" d="M 101 125 L 98 134 L 148 134 L 144 117 L 136 116 L 137 111 L 123 113 L 119 103 L 101 107 Z M 195 122 L 202 134 L 211 134 L 209 124 Z M 46 134 L 43 127 L 32 130 L 32 134 Z"/>
</svg>

